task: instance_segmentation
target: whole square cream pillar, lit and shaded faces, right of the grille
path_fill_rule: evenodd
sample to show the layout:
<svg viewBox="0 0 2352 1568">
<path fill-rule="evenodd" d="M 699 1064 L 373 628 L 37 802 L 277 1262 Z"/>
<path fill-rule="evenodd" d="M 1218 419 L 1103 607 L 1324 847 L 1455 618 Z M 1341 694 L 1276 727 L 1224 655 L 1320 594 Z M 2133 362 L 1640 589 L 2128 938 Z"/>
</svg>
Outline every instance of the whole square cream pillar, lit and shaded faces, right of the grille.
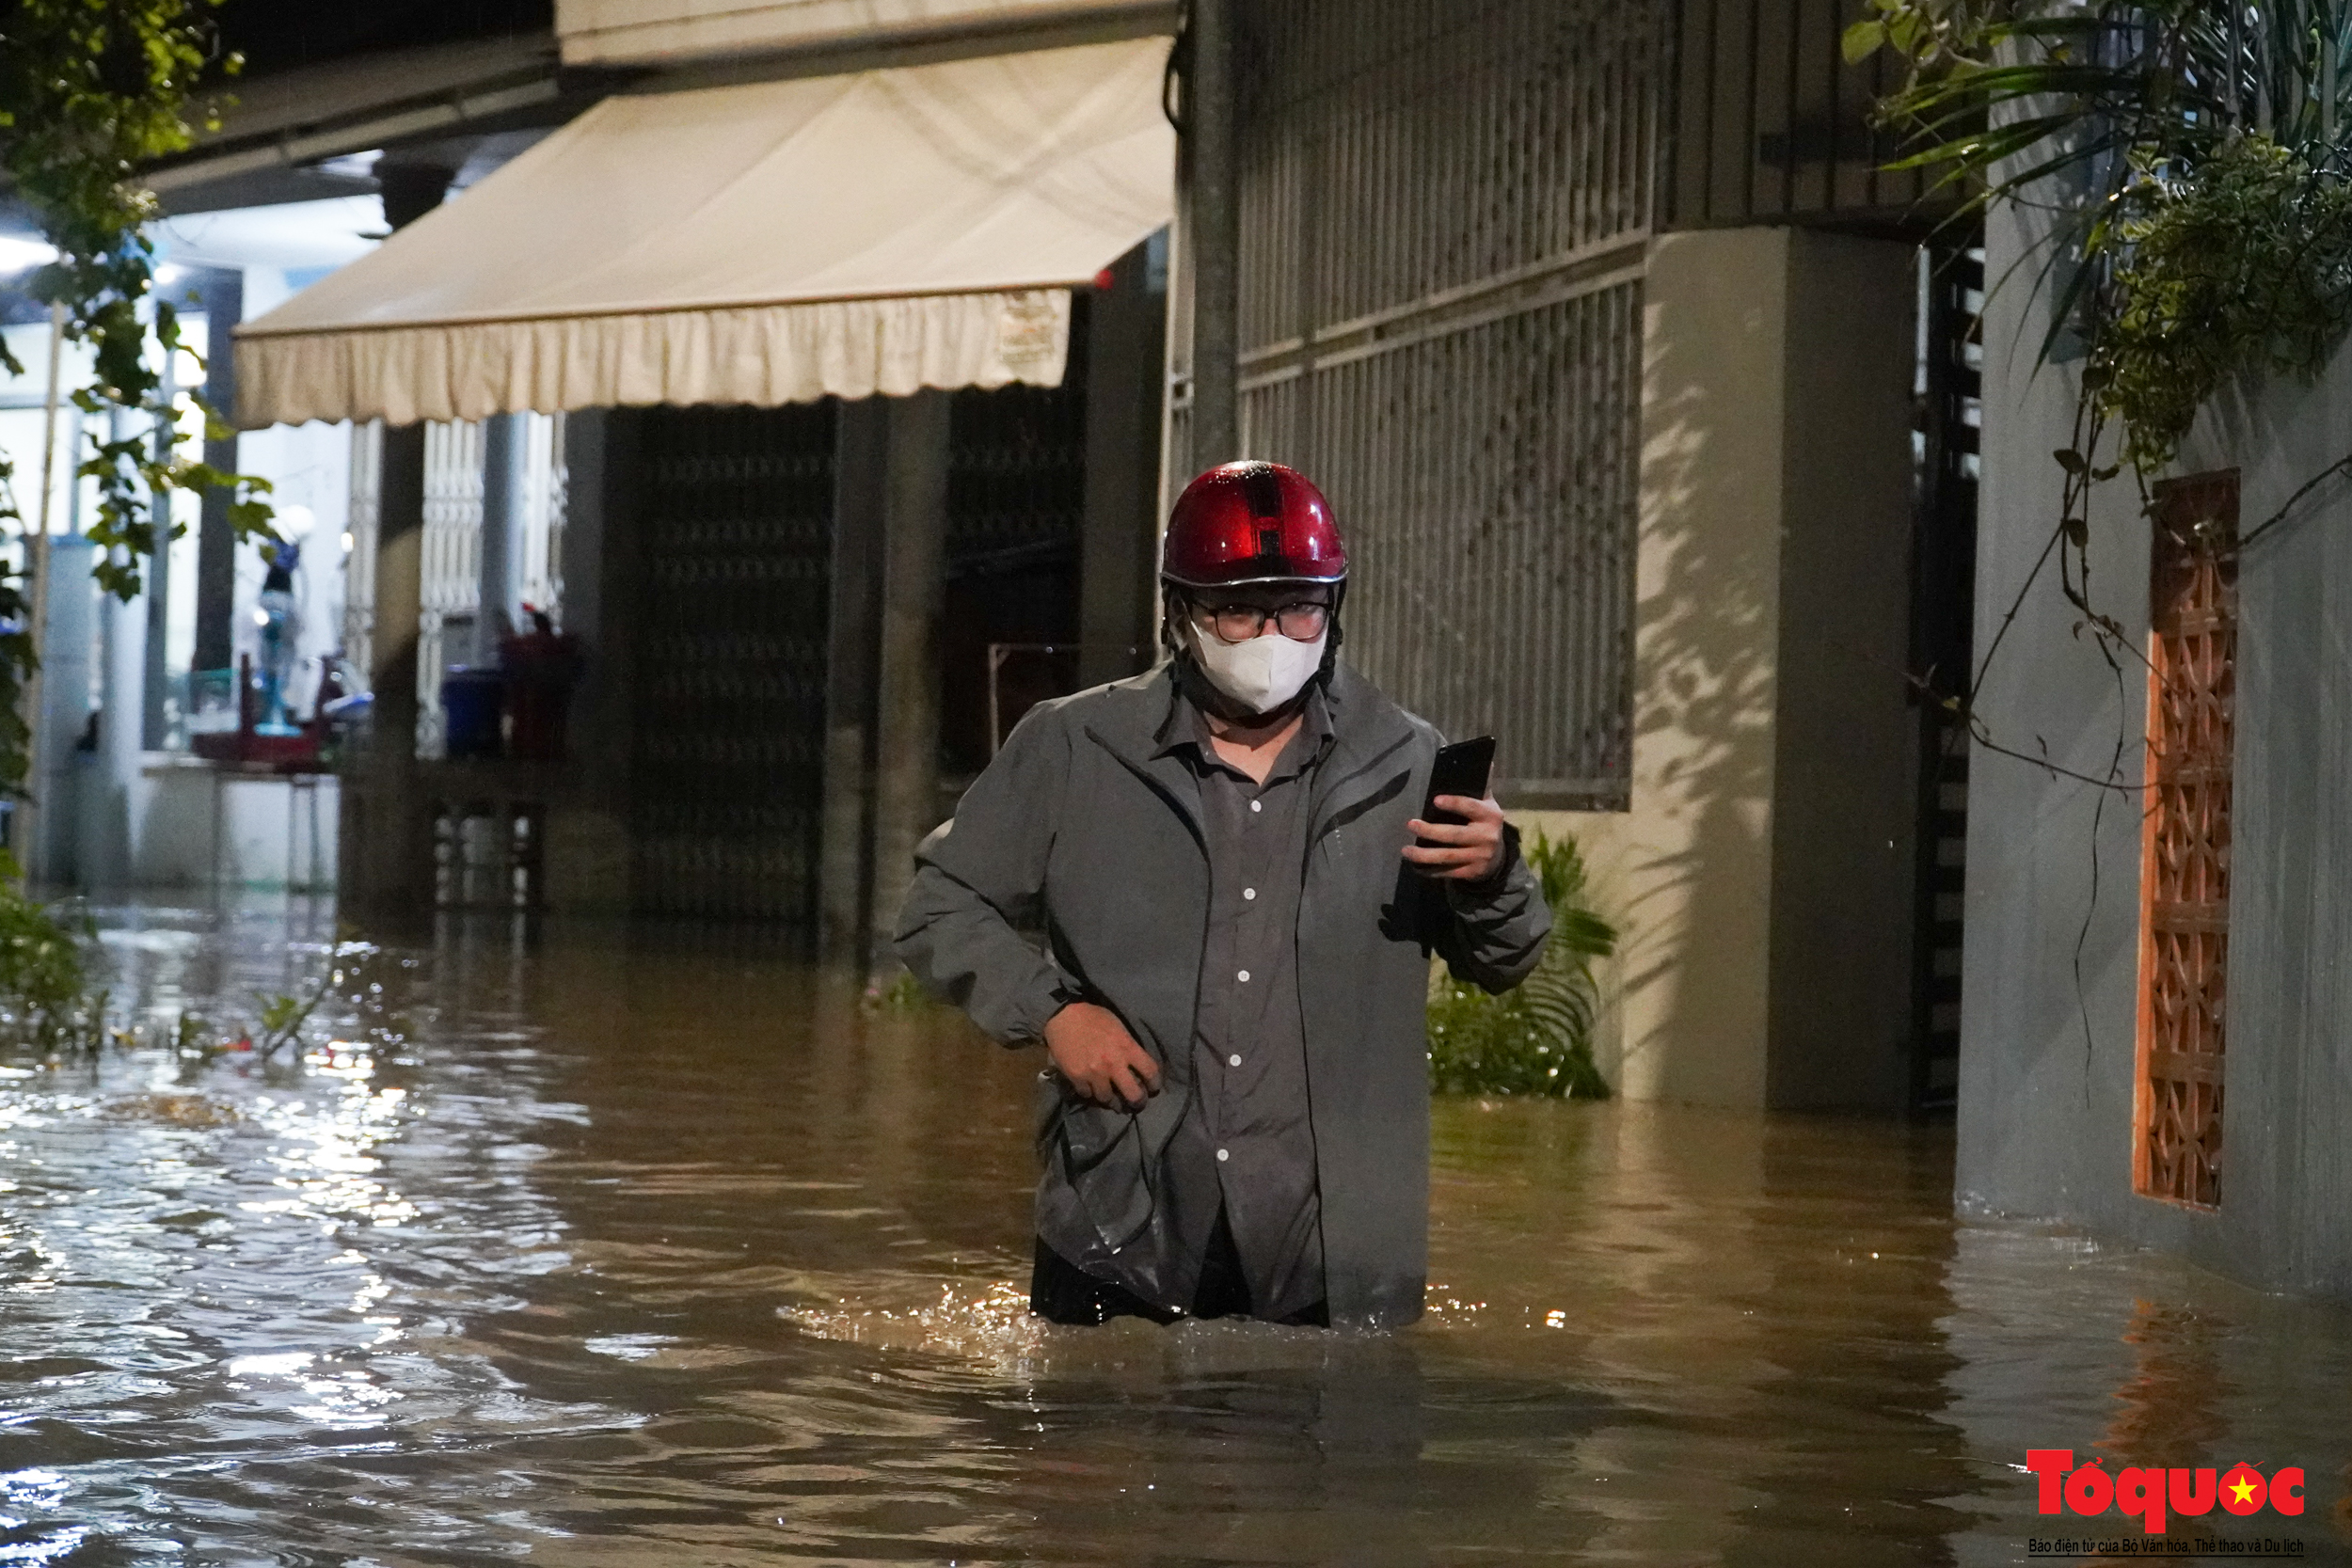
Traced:
<svg viewBox="0 0 2352 1568">
<path fill-rule="evenodd" d="M 1557 823 L 1623 926 L 1625 1098 L 1903 1107 L 1912 266 L 1788 228 L 1651 252 L 1632 809 Z"/>
</svg>

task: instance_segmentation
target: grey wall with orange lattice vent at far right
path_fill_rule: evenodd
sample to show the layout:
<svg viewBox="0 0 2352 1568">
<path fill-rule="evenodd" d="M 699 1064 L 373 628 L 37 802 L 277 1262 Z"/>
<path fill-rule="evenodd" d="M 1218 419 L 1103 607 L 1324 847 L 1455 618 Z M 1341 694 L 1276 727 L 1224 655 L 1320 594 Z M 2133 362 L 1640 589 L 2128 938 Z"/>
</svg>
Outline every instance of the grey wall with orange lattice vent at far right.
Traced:
<svg viewBox="0 0 2352 1568">
<path fill-rule="evenodd" d="M 2027 242 L 1997 219 L 1990 266 Z M 2340 487 L 2281 508 L 2343 456 L 2352 364 L 2225 393 L 2150 512 L 2129 477 L 2093 491 L 2110 665 L 2027 588 L 2077 395 L 2074 364 L 2034 364 L 2046 308 L 2009 289 L 1985 327 L 1980 717 L 2023 755 L 1980 750 L 1971 780 L 1959 1201 L 2343 1295 L 2352 555 Z"/>
</svg>

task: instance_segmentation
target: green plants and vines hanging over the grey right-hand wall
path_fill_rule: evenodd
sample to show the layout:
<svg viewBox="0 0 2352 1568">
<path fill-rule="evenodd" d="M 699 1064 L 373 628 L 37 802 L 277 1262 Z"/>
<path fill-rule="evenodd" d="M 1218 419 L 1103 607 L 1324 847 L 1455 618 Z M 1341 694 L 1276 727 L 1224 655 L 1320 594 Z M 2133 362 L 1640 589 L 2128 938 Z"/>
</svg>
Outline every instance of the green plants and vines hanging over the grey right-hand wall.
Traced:
<svg viewBox="0 0 2352 1568">
<path fill-rule="evenodd" d="M 1973 691 L 2025 592 L 2056 559 L 2065 599 L 2117 670 L 2143 661 L 2091 599 L 2091 496 L 2126 468 L 2147 487 L 2232 381 L 2312 381 L 2352 329 L 2352 5 L 1867 0 L 1846 56 L 1879 49 L 1905 85 L 1879 106 L 1966 214 L 2009 205 L 2039 230 L 2011 270 L 2049 296 L 2039 362 L 2079 360 L 2051 538 L 1978 658 Z M 2107 451 L 2114 461 L 2100 461 Z M 2312 475 L 2237 550 L 2352 454 Z M 2049 759 L 2034 757 L 2044 766 Z M 2053 769 L 2065 771 L 2065 769 Z M 2089 783 L 2126 788 L 2074 773 Z M 2136 788 L 2136 785 L 2129 785 Z"/>
</svg>

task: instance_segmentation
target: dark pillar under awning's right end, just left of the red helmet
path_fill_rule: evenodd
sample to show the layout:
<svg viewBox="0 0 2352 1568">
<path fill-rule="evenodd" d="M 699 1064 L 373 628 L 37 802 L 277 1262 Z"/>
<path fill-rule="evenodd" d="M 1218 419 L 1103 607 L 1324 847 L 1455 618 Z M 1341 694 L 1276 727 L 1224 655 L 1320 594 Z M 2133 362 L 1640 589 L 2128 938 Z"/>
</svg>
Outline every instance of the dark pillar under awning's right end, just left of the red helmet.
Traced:
<svg viewBox="0 0 2352 1568">
<path fill-rule="evenodd" d="M 1087 301 L 1087 515 L 1077 569 L 1077 682 L 1096 686 L 1150 665 L 1160 567 L 1160 371 L 1167 275 L 1145 240 Z M 1160 284 L 1157 289 L 1152 284 Z"/>
</svg>

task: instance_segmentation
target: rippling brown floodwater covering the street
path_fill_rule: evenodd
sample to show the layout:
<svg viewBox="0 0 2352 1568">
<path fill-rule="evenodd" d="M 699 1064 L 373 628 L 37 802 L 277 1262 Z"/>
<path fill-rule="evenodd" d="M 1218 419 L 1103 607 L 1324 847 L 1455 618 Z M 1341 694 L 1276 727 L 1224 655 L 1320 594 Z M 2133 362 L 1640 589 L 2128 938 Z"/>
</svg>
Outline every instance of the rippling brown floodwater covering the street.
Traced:
<svg viewBox="0 0 2352 1568">
<path fill-rule="evenodd" d="M 101 910 L 249 1009 L 329 912 Z M 447 926 L 306 1056 L 0 1065 L 0 1563 L 2009 1563 L 2300 1465 L 2352 1312 L 1955 1220 L 1950 1131 L 1437 1107 L 1395 1335 L 1023 1314 L 1035 1056 L 741 933 Z M 336 1011 L 343 1009 L 343 1011 Z M 325 1046 L 332 1034 L 346 1044 Z M 2218 1521 L 2218 1523 L 2216 1523 Z M 2227 1526 L 2227 1528 L 2220 1528 Z"/>
</svg>

